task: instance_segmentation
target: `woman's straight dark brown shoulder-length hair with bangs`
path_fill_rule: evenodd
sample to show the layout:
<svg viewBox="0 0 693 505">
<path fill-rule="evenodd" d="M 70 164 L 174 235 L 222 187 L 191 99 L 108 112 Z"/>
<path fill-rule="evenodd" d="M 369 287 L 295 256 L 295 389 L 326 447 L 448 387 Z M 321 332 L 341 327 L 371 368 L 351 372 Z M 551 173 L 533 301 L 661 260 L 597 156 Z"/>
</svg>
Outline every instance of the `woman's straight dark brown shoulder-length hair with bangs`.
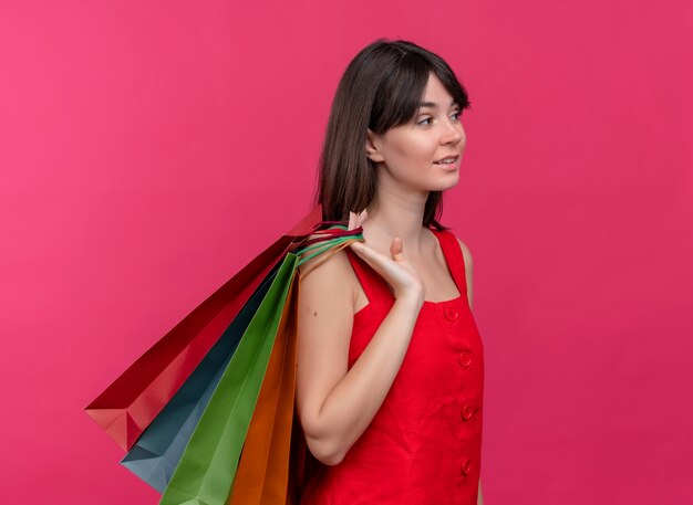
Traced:
<svg viewBox="0 0 693 505">
<path fill-rule="evenodd" d="M 345 221 L 375 198 L 375 164 L 365 155 L 366 130 L 377 135 L 407 123 L 418 109 L 433 72 L 459 105 L 470 107 L 466 90 L 449 65 L 412 42 L 377 39 L 349 63 L 337 88 L 320 155 L 316 203 L 324 221 Z M 443 192 L 431 191 L 423 225 L 445 230 Z"/>
</svg>

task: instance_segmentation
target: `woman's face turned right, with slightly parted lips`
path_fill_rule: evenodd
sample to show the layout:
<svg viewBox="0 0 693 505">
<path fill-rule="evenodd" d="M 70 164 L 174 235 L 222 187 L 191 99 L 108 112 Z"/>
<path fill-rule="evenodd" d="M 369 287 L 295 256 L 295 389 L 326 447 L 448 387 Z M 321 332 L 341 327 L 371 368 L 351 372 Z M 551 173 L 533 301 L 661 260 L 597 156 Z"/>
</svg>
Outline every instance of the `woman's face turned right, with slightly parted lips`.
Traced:
<svg viewBox="0 0 693 505">
<path fill-rule="evenodd" d="M 459 114 L 459 105 L 431 73 L 423 104 L 408 123 L 382 135 L 369 130 L 366 154 L 381 170 L 379 185 L 399 182 L 422 192 L 454 187 L 466 144 Z"/>
</svg>

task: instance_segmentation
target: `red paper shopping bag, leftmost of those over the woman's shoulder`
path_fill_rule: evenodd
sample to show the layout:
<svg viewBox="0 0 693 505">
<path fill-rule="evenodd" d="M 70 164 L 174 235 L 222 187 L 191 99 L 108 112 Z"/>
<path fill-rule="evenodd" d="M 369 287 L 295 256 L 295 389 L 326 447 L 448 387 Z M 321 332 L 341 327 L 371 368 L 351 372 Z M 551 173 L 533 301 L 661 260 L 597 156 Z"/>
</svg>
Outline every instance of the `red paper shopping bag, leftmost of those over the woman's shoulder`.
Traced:
<svg viewBox="0 0 693 505">
<path fill-rule="evenodd" d="M 199 365 L 268 272 L 321 219 L 314 207 L 168 332 L 84 410 L 128 450 Z"/>
</svg>

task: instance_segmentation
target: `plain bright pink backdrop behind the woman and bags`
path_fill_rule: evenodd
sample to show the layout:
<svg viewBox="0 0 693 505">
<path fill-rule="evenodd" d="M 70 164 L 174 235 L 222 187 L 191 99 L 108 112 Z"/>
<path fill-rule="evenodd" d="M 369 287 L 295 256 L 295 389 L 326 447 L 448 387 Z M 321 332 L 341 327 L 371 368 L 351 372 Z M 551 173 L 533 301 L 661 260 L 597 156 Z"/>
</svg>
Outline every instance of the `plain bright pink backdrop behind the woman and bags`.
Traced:
<svg viewBox="0 0 693 505">
<path fill-rule="evenodd" d="M 3 1 L 2 502 L 157 502 L 81 409 L 308 210 L 387 36 L 473 102 L 486 504 L 691 503 L 691 6 Z"/>
</svg>

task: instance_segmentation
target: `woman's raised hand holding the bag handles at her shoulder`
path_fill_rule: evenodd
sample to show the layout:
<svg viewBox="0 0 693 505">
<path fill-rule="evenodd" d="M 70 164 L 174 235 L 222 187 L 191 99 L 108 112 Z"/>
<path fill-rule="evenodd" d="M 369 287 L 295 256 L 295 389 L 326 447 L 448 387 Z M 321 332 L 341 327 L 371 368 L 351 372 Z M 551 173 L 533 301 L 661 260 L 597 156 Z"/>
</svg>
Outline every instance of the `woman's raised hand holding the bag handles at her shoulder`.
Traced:
<svg viewBox="0 0 693 505">
<path fill-rule="evenodd" d="M 365 209 L 360 214 L 350 211 L 349 230 L 359 228 L 366 219 L 368 212 Z M 407 261 L 401 238 L 395 236 L 392 239 L 390 257 L 370 248 L 364 242 L 353 242 L 350 244 L 350 248 L 390 284 L 395 298 L 411 297 L 420 305 L 423 304 L 423 282 Z"/>
</svg>

